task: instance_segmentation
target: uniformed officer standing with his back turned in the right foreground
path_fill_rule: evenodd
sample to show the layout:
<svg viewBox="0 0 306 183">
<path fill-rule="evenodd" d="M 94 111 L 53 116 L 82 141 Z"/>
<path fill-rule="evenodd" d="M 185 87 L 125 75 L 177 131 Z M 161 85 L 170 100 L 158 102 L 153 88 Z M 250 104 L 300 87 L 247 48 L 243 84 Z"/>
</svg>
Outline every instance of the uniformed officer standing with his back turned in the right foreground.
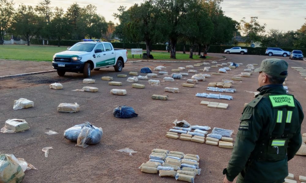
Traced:
<svg viewBox="0 0 306 183">
<path fill-rule="evenodd" d="M 255 69 L 260 93 L 243 110 L 224 183 L 237 176 L 237 183 L 281 183 L 288 175 L 287 162 L 302 144 L 304 114 L 283 88 L 287 69 L 282 59 L 265 59 Z"/>
</svg>

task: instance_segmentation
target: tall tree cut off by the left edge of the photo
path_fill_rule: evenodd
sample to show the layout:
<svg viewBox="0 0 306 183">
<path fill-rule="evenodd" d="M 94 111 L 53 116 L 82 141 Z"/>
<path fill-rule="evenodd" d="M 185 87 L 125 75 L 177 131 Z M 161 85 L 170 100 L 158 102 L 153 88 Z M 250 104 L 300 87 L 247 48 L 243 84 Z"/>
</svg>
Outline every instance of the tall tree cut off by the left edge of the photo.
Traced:
<svg viewBox="0 0 306 183">
<path fill-rule="evenodd" d="M 4 42 L 4 33 L 8 34 L 14 15 L 13 1 L 0 0 L 0 45 Z"/>
</svg>

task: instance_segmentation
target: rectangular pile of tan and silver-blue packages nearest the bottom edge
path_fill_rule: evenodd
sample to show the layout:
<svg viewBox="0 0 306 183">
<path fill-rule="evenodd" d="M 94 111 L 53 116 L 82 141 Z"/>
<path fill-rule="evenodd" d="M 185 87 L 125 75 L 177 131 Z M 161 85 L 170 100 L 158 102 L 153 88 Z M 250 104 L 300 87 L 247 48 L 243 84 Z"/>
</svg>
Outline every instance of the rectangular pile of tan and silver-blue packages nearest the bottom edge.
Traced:
<svg viewBox="0 0 306 183">
<path fill-rule="evenodd" d="M 200 175 L 200 157 L 195 154 L 184 154 L 178 151 L 153 149 L 149 161 L 139 167 L 141 172 L 159 174 L 159 177 L 173 177 L 178 181 L 194 183 Z"/>
</svg>

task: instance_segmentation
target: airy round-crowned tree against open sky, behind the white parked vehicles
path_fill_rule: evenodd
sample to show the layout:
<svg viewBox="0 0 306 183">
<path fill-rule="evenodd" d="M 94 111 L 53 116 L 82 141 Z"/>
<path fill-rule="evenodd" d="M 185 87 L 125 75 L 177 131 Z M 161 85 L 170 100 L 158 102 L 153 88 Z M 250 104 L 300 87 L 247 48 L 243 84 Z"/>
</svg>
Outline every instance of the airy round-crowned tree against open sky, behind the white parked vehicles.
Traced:
<svg viewBox="0 0 306 183">
<path fill-rule="evenodd" d="M 265 33 L 266 24 L 260 25 L 257 19 L 257 16 L 253 16 L 250 22 L 246 22 L 245 18 L 240 21 L 240 30 L 246 36 L 247 44 L 259 42 Z"/>
</svg>

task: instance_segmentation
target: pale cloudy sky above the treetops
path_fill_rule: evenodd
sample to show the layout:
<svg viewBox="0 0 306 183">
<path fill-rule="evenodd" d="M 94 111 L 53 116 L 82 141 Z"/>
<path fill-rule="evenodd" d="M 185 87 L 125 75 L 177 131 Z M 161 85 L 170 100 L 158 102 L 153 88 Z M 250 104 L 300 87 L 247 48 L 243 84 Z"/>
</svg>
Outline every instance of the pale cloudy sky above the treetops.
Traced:
<svg viewBox="0 0 306 183">
<path fill-rule="evenodd" d="M 42 0 L 13 0 L 16 7 L 23 3 L 24 5 L 35 6 Z M 143 0 L 51 0 L 51 6 L 62 7 L 65 11 L 73 4 L 77 3 L 80 7 L 88 4 L 97 6 L 97 13 L 105 17 L 106 21 L 113 21 L 113 13 L 118 13 L 120 5 L 130 6 L 135 3 L 140 4 Z M 284 32 L 289 30 L 296 31 L 305 23 L 306 18 L 306 0 L 224 0 L 222 10 L 226 16 L 240 22 L 245 17 L 250 21 L 250 17 L 257 16 L 257 21 L 263 25 L 267 24 L 266 31 L 278 29 Z"/>
</svg>

